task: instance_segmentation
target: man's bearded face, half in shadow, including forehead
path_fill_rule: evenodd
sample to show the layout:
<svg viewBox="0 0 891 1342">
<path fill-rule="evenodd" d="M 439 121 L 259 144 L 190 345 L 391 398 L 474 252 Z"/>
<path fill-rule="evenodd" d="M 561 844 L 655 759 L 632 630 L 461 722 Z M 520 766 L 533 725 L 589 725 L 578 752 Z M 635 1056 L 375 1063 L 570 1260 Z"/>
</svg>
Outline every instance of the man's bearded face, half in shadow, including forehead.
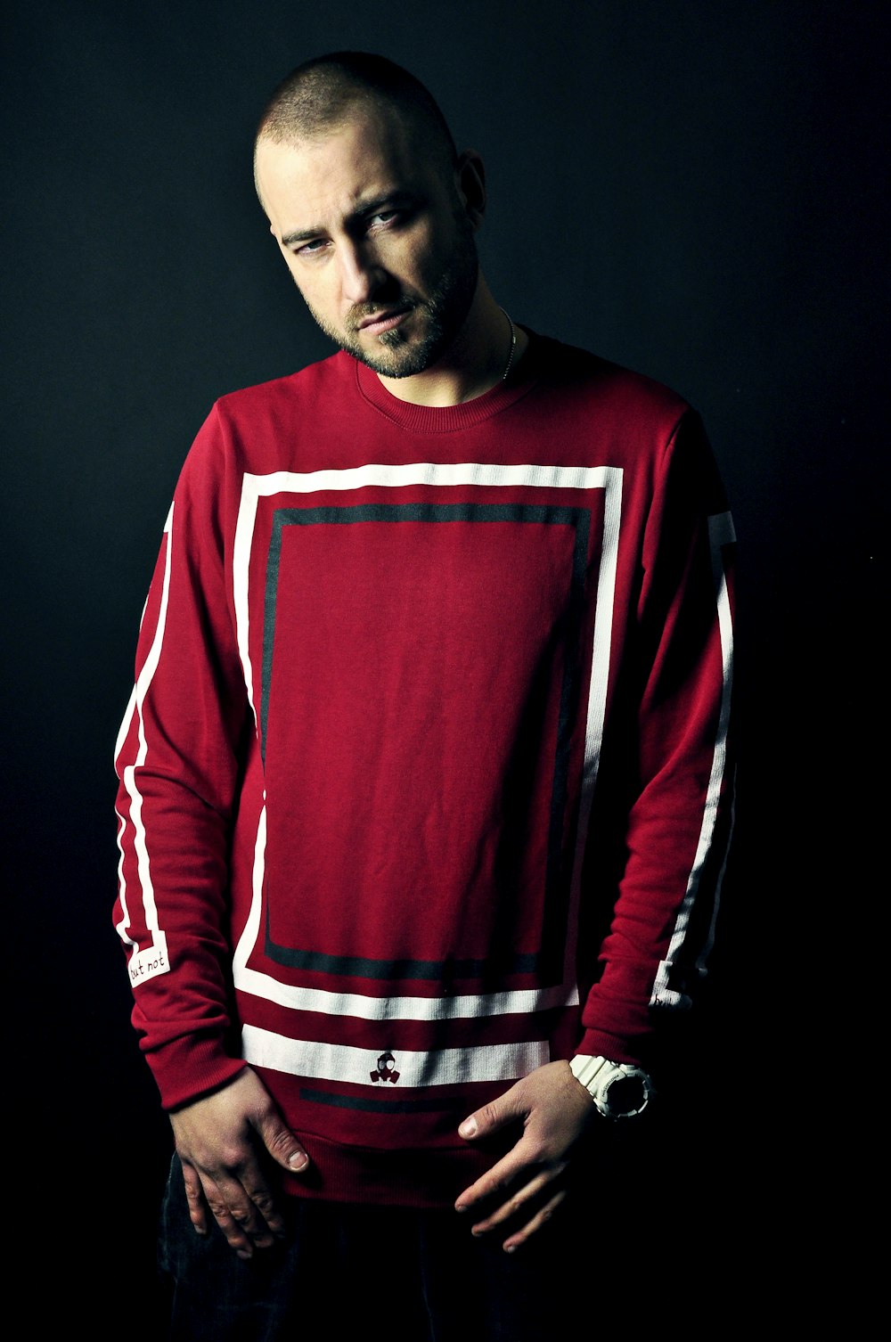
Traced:
<svg viewBox="0 0 891 1342">
<path fill-rule="evenodd" d="M 297 287 L 333 341 L 384 377 L 441 357 L 467 317 L 478 263 L 437 154 L 372 107 L 317 138 L 260 140 L 256 180 Z"/>
</svg>

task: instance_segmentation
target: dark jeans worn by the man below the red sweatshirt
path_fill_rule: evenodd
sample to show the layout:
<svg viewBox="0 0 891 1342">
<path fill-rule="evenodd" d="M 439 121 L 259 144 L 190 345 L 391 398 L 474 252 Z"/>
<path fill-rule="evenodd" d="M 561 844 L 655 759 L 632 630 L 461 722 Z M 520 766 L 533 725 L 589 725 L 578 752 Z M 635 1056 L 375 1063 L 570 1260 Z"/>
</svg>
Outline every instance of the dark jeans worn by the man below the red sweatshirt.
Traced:
<svg viewBox="0 0 891 1342">
<path fill-rule="evenodd" d="M 173 1342 L 549 1342 L 584 1291 L 569 1216 L 505 1253 L 452 1210 L 283 1202 L 286 1239 L 244 1261 L 216 1225 L 195 1233 L 174 1158 L 160 1239 Z"/>
</svg>

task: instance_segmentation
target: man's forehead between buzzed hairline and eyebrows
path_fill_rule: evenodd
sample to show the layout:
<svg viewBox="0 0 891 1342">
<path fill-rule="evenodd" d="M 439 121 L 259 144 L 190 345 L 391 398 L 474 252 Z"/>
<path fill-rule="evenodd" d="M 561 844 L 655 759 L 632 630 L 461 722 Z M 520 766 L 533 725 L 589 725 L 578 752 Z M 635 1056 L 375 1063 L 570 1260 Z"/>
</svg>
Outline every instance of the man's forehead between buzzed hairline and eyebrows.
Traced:
<svg viewBox="0 0 891 1342">
<path fill-rule="evenodd" d="M 306 140 L 260 138 L 256 184 L 272 229 L 337 227 L 362 201 L 437 187 L 431 156 L 393 113 L 356 110 L 349 121 Z"/>
</svg>

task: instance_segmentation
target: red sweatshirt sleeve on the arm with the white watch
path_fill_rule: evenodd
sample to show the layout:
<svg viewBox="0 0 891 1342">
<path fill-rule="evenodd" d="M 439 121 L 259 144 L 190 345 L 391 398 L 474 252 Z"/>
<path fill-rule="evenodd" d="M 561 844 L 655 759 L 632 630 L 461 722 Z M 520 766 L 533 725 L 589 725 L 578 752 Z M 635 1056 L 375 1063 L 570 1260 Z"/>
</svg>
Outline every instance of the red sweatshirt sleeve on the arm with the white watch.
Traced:
<svg viewBox="0 0 891 1342">
<path fill-rule="evenodd" d="M 706 972 L 733 816 L 733 542 L 711 452 L 688 413 L 655 483 L 628 603 L 616 715 L 625 730 L 605 746 L 623 778 L 605 815 L 624 839 L 624 870 L 582 1012 L 582 1053 L 639 1060 L 653 1012 L 688 1007 Z"/>
</svg>

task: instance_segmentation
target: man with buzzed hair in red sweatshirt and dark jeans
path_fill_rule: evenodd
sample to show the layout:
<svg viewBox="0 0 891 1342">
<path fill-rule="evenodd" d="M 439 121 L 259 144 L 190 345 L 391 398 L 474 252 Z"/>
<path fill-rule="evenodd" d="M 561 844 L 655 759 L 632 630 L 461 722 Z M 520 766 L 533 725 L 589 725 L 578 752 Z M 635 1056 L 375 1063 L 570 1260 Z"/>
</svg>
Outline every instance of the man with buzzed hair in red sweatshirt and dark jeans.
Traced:
<svg viewBox="0 0 891 1342">
<path fill-rule="evenodd" d="M 731 526 L 687 405 L 496 305 L 405 71 L 298 68 L 255 177 L 341 353 L 212 411 L 118 742 L 176 1330 L 542 1338 L 711 941 Z"/>
</svg>

